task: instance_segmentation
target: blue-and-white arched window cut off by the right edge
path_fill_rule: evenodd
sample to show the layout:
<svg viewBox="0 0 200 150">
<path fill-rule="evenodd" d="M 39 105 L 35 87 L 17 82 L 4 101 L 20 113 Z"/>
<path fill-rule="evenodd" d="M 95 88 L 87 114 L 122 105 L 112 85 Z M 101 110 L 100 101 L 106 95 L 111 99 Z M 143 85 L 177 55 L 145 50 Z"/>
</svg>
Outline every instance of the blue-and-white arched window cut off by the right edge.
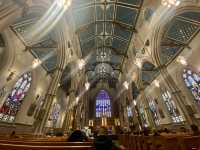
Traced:
<svg viewBox="0 0 200 150">
<path fill-rule="evenodd" d="M 183 79 L 197 103 L 200 104 L 200 76 L 189 69 L 184 69 Z"/>
</svg>

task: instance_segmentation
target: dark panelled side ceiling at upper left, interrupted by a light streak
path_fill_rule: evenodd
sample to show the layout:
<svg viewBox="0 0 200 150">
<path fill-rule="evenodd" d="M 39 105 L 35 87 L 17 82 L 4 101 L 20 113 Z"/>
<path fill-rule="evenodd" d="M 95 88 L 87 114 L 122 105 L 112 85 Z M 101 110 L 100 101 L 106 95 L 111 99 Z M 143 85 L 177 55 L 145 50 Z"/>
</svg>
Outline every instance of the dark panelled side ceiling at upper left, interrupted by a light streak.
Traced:
<svg viewBox="0 0 200 150">
<path fill-rule="evenodd" d="M 33 11 L 32 9 L 25 12 L 21 18 L 17 19 L 15 23 L 11 25 L 11 29 L 24 43 L 30 53 L 36 59 L 40 59 L 43 62 L 42 67 L 47 73 L 52 73 L 57 67 L 57 42 L 53 38 L 53 35 L 47 35 L 40 39 L 35 45 L 28 45 L 24 39 L 24 34 L 28 32 L 28 29 L 40 18 L 40 15 L 35 12 L 37 11 Z"/>
</svg>

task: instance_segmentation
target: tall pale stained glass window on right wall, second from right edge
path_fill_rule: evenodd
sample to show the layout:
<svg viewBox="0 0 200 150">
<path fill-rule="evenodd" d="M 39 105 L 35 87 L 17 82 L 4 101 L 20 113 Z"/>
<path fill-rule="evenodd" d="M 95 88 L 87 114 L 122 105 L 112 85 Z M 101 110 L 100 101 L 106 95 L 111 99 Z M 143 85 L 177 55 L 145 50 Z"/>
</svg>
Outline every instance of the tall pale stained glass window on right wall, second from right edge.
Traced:
<svg viewBox="0 0 200 150">
<path fill-rule="evenodd" d="M 171 115 L 172 121 L 175 123 L 182 122 L 183 117 L 180 115 L 180 112 L 176 107 L 176 104 L 174 103 L 171 94 L 168 91 L 166 91 L 162 94 L 162 97 L 166 104 L 167 110 Z"/>
</svg>

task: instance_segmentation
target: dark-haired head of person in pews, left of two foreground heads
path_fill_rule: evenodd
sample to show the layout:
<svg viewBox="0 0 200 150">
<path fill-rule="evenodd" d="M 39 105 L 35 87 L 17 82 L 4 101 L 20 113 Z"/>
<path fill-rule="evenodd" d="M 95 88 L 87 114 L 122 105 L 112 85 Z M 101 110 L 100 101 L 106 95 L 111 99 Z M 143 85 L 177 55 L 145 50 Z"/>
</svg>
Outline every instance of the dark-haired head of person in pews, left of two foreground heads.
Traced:
<svg viewBox="0 0 200 150">
<path fill-rule="evenodd" d="M 67 139 L 68 142 L 87 142 L 86 134 L 81 130 L 75 130 Z"/>
</svg>

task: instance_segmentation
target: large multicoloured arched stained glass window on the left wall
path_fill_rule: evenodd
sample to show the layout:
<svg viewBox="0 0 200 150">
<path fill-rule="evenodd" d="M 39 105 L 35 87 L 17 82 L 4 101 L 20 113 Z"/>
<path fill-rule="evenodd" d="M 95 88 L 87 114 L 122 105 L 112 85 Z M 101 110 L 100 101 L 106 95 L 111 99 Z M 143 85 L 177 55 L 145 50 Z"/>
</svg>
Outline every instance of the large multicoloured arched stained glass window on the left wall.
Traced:
<svg viewBox="0 0 200 150">
<path fill-rule="evenodd" d="M 23 74 L 15 83 L 3 106 L 0 108 L 0 121 L 14 122 L 25 94 L 31 86 L 31 73 Z"/>
</svg>

